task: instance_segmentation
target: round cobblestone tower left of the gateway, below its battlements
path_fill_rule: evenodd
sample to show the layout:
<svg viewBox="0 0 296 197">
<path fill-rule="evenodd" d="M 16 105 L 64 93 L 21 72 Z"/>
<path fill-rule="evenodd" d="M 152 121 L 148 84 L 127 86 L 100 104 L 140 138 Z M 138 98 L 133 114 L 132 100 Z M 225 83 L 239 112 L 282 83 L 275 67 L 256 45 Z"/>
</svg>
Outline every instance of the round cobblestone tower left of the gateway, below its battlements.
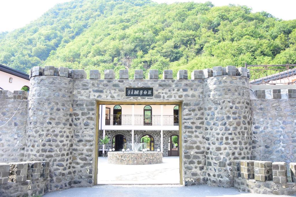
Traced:
<svg viewBox="0 0 296 197">
<path fill-rule="evenodd" d="M 28 161 L 49 161 L 48 191 L 70 188 L 73 146 L 73 79 L 30 79 Z"/>
</svg>

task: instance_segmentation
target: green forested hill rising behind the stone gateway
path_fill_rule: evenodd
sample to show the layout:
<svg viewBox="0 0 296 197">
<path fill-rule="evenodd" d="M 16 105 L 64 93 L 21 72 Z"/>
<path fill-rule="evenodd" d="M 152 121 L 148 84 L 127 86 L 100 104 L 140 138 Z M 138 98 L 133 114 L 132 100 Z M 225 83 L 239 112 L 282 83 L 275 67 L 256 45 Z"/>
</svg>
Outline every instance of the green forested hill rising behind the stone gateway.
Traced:
<svg viewBox="0 0 296 197">
<path fill-rule="evenodd" d="M 211 68 L 296 64 L 296 20 L 246 6 L 157 4 L 149 0 L 75 0 L 29 25 L 0 33 L 0 63 L 72 69 Z M 118 77 L 118 76 L 117 76 Z"/>
</svg>

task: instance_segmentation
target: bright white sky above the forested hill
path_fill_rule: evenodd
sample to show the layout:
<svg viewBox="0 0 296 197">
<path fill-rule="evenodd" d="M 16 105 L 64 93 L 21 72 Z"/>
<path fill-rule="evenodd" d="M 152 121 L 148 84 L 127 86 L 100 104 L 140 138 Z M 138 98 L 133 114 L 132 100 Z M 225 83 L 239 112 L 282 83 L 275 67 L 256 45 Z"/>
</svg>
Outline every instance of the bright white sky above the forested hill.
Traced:
<svg viewBox="0 0 296 197">
<path fill-rule="evenodd" d="M 0 0 L 0 32 L 11 31 L 25 26 L 40 17 L 57 3 L 70 0 Z M 177 0 L 153 0 L 158 3 L 173 3 Z M 178 0 L 187 2 L 189 0 Z M 207 0 L 193 0 L 206 2 Z M 296 19 L 295 0 L 212 0 L 215 6 L 228 4 L 246 5 L 253 12 L 266 11 L 284 20 Z"/>
</svg>

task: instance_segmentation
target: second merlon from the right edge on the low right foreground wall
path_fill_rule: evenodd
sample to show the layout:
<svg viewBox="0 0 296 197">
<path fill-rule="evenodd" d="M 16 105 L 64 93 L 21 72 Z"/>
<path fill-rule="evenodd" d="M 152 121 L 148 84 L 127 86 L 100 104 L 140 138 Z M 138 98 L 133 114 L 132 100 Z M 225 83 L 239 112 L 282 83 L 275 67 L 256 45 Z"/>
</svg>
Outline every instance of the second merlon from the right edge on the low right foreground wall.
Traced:
<svg viewBox="0 0 296 197">
<path fill-rule="evenodd" d="M 287 183 L 287 164 L 286 162 L 273 162 L 272 174 L 274 183 Z"/>
</svg>

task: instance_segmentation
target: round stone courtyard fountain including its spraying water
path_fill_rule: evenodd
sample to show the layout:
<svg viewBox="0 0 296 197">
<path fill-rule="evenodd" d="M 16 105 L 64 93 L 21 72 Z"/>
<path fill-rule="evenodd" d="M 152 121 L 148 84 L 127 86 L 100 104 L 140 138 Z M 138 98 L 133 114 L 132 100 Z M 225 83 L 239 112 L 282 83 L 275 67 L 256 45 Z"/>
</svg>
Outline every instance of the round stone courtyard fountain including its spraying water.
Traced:
<svg viewBox="0 0 296 197">
<path fill-rule="evenodd" d="M 163 162 L 163 153 L 147 151 L 146 143 L 135 142 L 127 143 L 126 148 L 130 149 L 126 151 L 122 149 L 119 152 L 108 152 L 108 163 L 121 164 L 121 165 L 144 165 L 144 164 L 157 164 Z"/>
</svg>

